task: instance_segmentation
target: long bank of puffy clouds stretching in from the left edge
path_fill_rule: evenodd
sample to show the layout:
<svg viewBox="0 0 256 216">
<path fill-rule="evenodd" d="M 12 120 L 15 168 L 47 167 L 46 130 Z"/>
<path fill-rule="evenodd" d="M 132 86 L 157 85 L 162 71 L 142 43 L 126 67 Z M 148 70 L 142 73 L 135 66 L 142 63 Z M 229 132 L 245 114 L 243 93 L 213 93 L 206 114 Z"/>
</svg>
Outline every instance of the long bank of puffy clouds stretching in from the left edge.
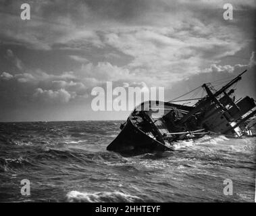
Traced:
<svg viewBox="0 0 256 216">
<path fill-rule="evenodd" d="M 13 80 L 11 86 L 8 86 L 8 94 L 10 91 L 22 90 L 23 94 L 33 96 L 40 101 L 55 101 L 56 103 L 69 102 L 70 99 L 80 99 L 88 97 L 90 86 L 85 84 L 93 83 L 92 80 L 81 80 L 74 72 L 63 72 L 59 75 L 47 74 L 41 70 L 31 73 L 20 73 L 11 75 L 3 72 L 0 75 L 3 82 L 3 88 L 7 88 L 7 80 Z M 82 81 L 82 82 L 79 82 Z M 36 92 L 31 91 L 36 88 Z"/>
</svg>

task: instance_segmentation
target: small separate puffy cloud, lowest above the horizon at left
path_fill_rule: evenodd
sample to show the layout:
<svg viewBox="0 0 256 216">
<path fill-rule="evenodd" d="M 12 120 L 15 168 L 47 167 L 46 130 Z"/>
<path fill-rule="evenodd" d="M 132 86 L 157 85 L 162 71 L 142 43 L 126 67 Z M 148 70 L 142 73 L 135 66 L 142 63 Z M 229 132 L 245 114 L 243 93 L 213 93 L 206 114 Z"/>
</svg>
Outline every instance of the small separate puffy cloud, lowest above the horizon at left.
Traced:
<svg viewBox="0 0 256 216">
<path fill-rule="evenodd" d="M 33 94 L 33 97 L 36 99 L 41 99 L 45 102 L 61 102 L 68 103 L 70 99 L 74 98 L 74 95 L 71 95 L 70 92 L 61 88 L 59 90 L 43 90 L 42 88 L 36 88 L 36 91 Z"/>
</svg>

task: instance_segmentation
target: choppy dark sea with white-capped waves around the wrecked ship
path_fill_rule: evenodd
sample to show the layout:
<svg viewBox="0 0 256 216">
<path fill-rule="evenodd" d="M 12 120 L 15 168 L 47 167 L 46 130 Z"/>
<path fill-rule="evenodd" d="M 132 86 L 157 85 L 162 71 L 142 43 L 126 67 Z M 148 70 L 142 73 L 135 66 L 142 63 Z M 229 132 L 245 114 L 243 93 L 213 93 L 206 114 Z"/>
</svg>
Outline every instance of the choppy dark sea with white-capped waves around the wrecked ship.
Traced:
<svg viewBox="0 0 256 216">
<path fill-rule="evenodd" d="M 122 122 L 0 123 L 0 202 L 255 202 L 256 138 L 124 157 L 106 150 Z"/>
</svg>

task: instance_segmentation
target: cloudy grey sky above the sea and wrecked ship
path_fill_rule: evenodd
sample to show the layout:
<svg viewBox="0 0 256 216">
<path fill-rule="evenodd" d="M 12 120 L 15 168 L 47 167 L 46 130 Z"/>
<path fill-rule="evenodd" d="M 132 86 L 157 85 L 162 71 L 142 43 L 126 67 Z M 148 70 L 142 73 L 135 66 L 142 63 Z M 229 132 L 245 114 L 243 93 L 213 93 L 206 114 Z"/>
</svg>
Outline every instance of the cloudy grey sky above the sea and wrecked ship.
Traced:
<svg viewBox="0 0 256 216">
<path fill-rule="evenodd" d="M 126 119 L 93 111 L 94 87 L 165 88 L 170 101 L 248 70 L 237 98 L 256 99 L 256 1 L 0 0 L 0 121 Z M 216 87 L 217 88 L 217 87 Z"/>
</svg>

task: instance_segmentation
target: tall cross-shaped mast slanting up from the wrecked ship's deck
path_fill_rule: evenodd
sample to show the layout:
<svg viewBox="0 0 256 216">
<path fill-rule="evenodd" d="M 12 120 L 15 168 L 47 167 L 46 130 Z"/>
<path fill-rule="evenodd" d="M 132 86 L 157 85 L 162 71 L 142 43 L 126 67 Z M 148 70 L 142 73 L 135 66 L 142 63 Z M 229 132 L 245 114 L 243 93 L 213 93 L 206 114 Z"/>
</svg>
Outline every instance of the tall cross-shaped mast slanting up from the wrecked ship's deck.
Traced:
<svg viewBox="0 0 256 216">
<path fill-rule="evenodd" d="M 223 86 L 220 90 L 217 90 L 217 92 L 215 92 L 214 94 L 213 94 L 213 92 L 211 92 L 211 90 L 207 87 L 206 84 L 203 84 L 202 87 L 205 88 L 208 96 L 205 97 L 205 99 L 202 100 L 201 103 L 199 103 L 199 105 L 197 105 L 197 107 L 195 107 L 192 111 L 190 111 L 188 114 L 184 115 L 184 117 L 182 117 L 182 119 L 180 119 L 179 124 L 183 124 L 187 119 L 190 118 L 191 115 L 194 115 L 195 113 L 197 113 L 201 108 L 205 107 L 211 101 L 214 101 L 215 103 L 217 103 L 218 106 L 220 106 L 222 109 L 224 109 L 224 107 L 221 105 L 220 101 L 218 101 L 216 97 L 219 96 L 220 94 L 222 94 L 222 92 L 224 92 L 228 88 L 230 88 L 230 86 L 232 86 L 233 84 L 235 84 L 236 82 L 241 80 L 242 74 L 245 74 L 245 72 L 247 72 L 247 70 L 245 70 L 244 72 L 242 72 L 241 74 L 236 76 L 236 78 L 234 78 L 233 80 L 228 82 L 228 84 Z"/>
</svg>

